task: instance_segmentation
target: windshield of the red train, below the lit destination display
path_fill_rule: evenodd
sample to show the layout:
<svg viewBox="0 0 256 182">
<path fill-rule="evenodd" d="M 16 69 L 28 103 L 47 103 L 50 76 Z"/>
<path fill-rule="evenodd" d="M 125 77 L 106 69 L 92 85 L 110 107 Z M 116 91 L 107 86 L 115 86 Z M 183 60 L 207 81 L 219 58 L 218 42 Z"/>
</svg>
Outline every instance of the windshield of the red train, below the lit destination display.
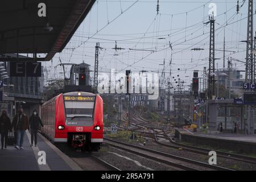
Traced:
<svg viewBox="0 0 256 182">
<path fill-rule="evenodd" d="M 65 101 L 67 118 L 92 118 L 94 102 Z"/>
</svg>

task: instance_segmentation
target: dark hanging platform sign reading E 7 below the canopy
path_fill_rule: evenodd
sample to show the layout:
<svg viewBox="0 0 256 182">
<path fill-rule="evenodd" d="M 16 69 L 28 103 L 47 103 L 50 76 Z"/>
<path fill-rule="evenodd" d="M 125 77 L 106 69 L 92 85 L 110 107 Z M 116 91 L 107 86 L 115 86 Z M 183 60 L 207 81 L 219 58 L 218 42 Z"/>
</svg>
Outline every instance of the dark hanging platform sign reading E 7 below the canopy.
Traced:
<svg viewBox="0 0 256 182">
<path fill-rule="evenodd" d="M 41 77 L 42 65 L 39 62 L 11 62 L 10 76 Z"/>
</svg>

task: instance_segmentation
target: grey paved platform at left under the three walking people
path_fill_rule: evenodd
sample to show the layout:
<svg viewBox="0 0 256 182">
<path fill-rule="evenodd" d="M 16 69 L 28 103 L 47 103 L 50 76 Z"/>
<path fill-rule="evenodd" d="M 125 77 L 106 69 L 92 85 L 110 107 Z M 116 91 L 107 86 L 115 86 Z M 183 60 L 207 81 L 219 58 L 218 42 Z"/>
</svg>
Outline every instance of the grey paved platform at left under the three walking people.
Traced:
<svg viewBox="0 0 256 182">
<path fill-rule="evenodd" d="M 24 150 L 14 146 L 0 149 L 0 171 L 81 171 L 82 169 L 71 158 L 65 155 L 42 135 L 38 135 L 37 147 L 30 147 L 30 133 L 24 135 Z M 41 155 L 46 152 L 46 164 L 39 164 Z"/>
</svg>

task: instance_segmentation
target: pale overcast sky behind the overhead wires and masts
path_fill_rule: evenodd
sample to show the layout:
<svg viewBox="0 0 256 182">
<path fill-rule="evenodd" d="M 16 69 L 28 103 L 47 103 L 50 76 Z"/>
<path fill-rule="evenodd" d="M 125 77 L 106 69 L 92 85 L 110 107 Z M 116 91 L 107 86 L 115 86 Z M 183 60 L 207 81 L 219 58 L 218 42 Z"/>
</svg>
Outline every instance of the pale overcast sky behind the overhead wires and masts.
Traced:
<svg viewBox="0 0 256 182">
<path fill-rule="evenodd" d="M 234 51 L 226 52 L 226 56 L 244 61 L 246 43 L 241 40 L 246 40 L 247 1 L 241 7 L 240 13 L 236 14 L 237 0 L 165 0 L 159 1 L 159 14 L 156 14 L 156 0 L 100 0 L 94 3 L 64 51 L 55 55 L 53 63 L 43 65 L 51 69 L 51 78 L 63 77 L 62 68 L 55 68 L 60 63 L 59 58 L 63 63 L 79 64 L 84 60 L 92 65 L 93 70 L 95 46 L 96 42 L 100 42 L 101 72 L 107 72 L 110 68 L 122 72 L 125 69 L 133 72 L 162 72 L 163 65 L 159 64 L 163 64 L 165 60 L 166 77 L 170 75 L 171 68 L 172 76 L 177 78 L 180 75 L 181 80 L 186 82 L 185 85 L 189 85 L 193 70 L 199 70 L 201 77 L 203 68 L 208 69 L 209 66 L 210 29 L 209 24 L 204 24 L 208 22 L 209 3 L 216 3 L 217 9 L 217 16 L 214 17 L 215 48 L 223 49 L 225 29 L 226 50 Z M 239 5 L 242 4 L 240 0 Z M 115 52 L 115 40 L 117 47 L 125 49 Z M 191 51 L 191 48 L 197 47 L 204 50 Z M 216 60 L 216 68 L 222 68 L 223 51 L 216 51 L 215 57 L 220 58 Z M 243 63 L 233 63 L 240 70 L 244 69 Z"/>
</svg>

